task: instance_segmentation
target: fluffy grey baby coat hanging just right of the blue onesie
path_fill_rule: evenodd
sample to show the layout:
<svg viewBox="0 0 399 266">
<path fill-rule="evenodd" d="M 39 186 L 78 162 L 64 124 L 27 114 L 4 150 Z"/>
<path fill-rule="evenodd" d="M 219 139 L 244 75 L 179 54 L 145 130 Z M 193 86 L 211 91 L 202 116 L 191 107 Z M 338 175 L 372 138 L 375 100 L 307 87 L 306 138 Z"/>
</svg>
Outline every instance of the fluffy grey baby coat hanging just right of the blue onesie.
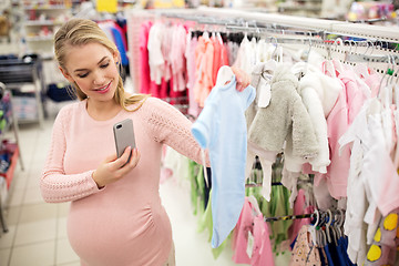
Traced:
<svg viewBox="0 0 399 266">
<path fill-rule="evenodd" d="M 294 155 L 316 155 L 318 143 L 297 86 L 298 80 L 287 66 L 278 65 L 273 75 L 270 103 L 256 112 L 248 130 L 249 142 L 266 151 L 282 152 L 291 132 Z"/>
</svg>

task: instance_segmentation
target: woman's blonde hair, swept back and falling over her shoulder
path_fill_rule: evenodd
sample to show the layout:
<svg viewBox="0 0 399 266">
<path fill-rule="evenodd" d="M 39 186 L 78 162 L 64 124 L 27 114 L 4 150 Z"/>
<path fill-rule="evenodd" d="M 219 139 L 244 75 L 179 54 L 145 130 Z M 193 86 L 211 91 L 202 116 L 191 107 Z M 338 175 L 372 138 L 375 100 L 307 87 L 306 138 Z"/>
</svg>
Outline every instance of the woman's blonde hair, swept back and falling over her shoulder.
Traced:
<svg viewBox="0 0 399 266">
<path fill-rule="evenodd" d="M 106 37 L 105 32 L 94 21 L 88 19 L 71 19 L 64 23 L 54 35 L 54 53 L 60 68 L 66 70 L 65 61 L 69 47 L 79 47 L 88 43 L 100 43 L 109 49 L 112 54 L 116 53 L 120 58 L 120 52 L 115 43 Z M 88 98 L 88 95 L 84 94 L 82 90 L 80 90 L 76 83 L 71 85 L 73 93 L 78 96 L 79 100 L 84 100 Z M 124 110 L 136 111 L 141 108 L 147 98 L 149 95 L 145 94 L 135 94 L 130 98 L 125 98 L 123 81 L 120 75 L 114 94 L 114 101 Z M 136 109 L 127 109 L 129 105 L 135 104 L 137 102 L 140 104 Z"/>
</svg>

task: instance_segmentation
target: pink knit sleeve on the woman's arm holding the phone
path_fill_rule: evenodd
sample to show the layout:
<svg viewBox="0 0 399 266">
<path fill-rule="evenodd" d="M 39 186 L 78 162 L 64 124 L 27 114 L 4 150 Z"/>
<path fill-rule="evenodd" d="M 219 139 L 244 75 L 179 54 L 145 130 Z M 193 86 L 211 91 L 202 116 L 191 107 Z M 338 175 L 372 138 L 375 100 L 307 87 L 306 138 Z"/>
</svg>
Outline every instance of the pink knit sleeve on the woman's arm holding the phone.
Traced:
<svg viewBox="0 0 399 266">
<path fill-rule="evenodd" d="M 68 114 L 61 111 L 55 119 L 50 151 L 40 180 L 42 196 L 49 203 L 75 201 L 100 191 L 92 178 L 93 171 L 65 175 L 63 163 L 66 151 L 66 117 Z"/>
</svg>

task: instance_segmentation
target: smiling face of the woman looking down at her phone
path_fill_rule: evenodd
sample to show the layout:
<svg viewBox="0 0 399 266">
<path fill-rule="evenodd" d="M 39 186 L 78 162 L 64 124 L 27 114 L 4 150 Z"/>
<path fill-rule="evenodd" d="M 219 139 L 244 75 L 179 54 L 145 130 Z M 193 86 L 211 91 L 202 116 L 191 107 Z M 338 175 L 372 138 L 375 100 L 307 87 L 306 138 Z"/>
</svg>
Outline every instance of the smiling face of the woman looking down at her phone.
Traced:
<svg viewBox="0 0 399 266">
<path fill-rule="evenodd" d="M 116 91 L 119 72 L 117 54 L 100 43 L 71 47 L 66 54 L 63 75 L 75 82 L 81 91 L 94 101 L 110 101 Z"/>
</svg>

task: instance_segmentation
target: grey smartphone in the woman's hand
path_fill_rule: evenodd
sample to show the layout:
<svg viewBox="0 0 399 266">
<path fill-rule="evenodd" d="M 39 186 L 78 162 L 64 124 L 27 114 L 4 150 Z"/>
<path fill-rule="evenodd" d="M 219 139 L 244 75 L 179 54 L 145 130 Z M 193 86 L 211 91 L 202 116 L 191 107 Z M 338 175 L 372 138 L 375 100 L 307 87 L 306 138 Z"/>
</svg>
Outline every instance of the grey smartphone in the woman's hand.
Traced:
<svg viewBox="0 0 399 266">
<path fill-rule="evenodd" d="M 114 139 L 115 139 L 115 147 L 116 147 L 117 157 L 122 156 L 124 150 L 127 146 L 131 146 L 132 150 L 135 147 L 133 121 L 131 119 L 126 119 L 126 120 L 123 120 L 123 121 L 114 124 L 113 133 L 114 133 Z M 129 160 L 126 163 L 130 162 L 131 156 L 132 156 L 132 152 L 129 155 Z"/>
</svg>

